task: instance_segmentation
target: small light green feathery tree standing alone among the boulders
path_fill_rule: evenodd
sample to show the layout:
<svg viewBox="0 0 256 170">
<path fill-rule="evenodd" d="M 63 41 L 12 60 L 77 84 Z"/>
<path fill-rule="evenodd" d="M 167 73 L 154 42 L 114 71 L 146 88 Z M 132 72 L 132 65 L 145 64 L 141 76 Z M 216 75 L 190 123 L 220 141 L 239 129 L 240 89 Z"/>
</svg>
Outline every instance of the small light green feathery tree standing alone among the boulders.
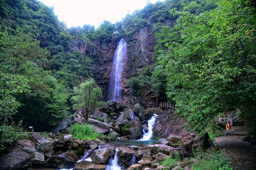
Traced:
<svg viewBox="0 0 256 170">
<path fill-rule="evenodd" d="M 92 112 L 103 103 L 102 90 L 96 86 L 94 80 L 87 80 L 78 87 L 74 87 L 74 93 L 75 96 L 71 97 L 73 109 L 81 109 L 85 122 L 88 123 Z"/>
</svg>

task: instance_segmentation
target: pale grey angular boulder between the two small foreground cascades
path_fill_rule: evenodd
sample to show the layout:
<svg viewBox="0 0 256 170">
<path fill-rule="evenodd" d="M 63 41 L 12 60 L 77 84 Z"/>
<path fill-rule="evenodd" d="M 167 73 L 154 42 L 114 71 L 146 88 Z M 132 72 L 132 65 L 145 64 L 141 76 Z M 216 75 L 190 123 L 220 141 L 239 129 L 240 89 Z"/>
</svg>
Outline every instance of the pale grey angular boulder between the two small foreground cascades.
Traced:
<svg viewBox="0 0 256 170">
<path fill-rule="evenodd" d="M 91 154 L 91 159 L 93 163 L 96 164 L 106 164 L 111 156 L 109 148 L 97 149 Z"/>
</svg>

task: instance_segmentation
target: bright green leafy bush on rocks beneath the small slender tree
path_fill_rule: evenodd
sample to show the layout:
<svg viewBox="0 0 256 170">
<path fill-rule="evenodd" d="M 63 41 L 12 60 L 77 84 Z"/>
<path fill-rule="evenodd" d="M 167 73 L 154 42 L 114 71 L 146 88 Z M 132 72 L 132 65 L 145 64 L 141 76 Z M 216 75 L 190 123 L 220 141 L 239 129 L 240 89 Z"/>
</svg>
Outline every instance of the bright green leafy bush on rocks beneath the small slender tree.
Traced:
<svg viewBox="0 0 256 170">
<path fill-rule="evenodd" d="M 73 135 L 74 138 L 78 138 L 81 140 L 95 140 L 99 138 L 100 140 L 103 139 L 103 134 L 92 129 L 89 124 L 74 124 L 71 125 L 70 133 Z"/>
</svg>

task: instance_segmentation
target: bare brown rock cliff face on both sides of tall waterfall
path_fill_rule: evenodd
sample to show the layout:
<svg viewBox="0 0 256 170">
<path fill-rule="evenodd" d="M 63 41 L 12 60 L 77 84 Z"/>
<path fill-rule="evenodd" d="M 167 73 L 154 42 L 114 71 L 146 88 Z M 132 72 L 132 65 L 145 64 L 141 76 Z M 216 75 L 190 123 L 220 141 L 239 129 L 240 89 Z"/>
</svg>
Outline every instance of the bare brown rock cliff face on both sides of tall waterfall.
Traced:
<svg viewBox="0 0 256 170">
<path fill-rule="evenodd" d="M 151 63 L 155 46 L 155 36 L 153 28 L 144 27 L 132 36 L 125 37 L 127 43 L 127 57 L 124 59 L 123 69 L 123 103 L 130 104 L 132 91 L 127 80 L 136 75 L 145 65 Z M 102 88 L 103 100 L 107 100 L 108 82 L 110 78 L 111 65 L 116 50 L 117 42 L 104 42 L 95 40 L 92 44 L 86 41 L 73 39 L 71 51 L 80 51 L 84 57 L 88 56 L 94 59 L 94 79 Z"/>
</svg>

